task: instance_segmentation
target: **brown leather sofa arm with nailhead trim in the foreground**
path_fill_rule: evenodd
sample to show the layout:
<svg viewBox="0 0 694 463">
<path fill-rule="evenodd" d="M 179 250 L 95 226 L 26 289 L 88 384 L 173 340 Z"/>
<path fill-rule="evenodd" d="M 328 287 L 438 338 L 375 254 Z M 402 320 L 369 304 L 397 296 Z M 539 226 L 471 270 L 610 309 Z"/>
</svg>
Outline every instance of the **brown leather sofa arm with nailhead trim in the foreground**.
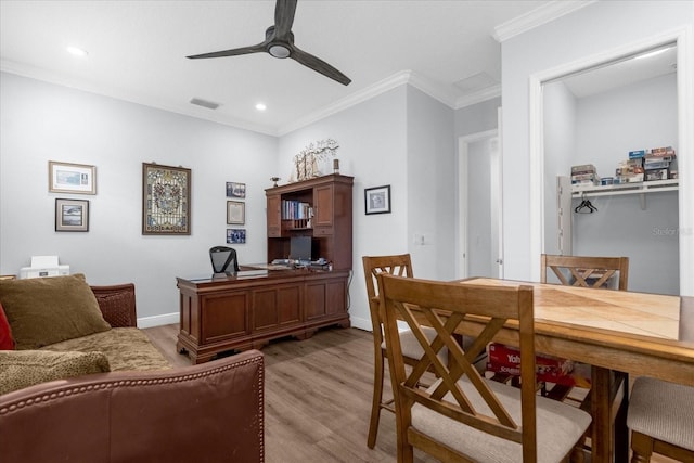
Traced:
<svg viewBox="0 0 694 463">
<path fill-rule="evenodd" d="M 0 459 L 262 462 L 264 357 L 53 381 L 0 396 Z"/>
</svg>

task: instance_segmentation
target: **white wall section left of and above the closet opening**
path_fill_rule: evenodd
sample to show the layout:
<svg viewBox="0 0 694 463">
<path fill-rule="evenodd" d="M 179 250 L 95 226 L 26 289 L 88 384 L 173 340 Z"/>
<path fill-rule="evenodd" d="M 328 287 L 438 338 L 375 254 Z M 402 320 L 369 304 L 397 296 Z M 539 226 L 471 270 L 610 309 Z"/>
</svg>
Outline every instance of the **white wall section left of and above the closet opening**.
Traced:
<svg viewBox="0 0 694 463">
<path fill-rule="evenodd" d="M 539 274 L 532 217 L 530 77 L 578 60 L 604 54 L 670 29 L 694 25 L 694 3 L 678 1 L 595 2 L 502 43 L 505 276 Z M 680 108 L 680 114 L 690 110 Z M 690 129 L 691 130 L 691 129 Z M 682 146 L 680 146 L 682 147 Z M 684 153 L 683 155 L 692 155 Z M 682 227 L 682 223 L 680 223 Z M 683 230 L 683 233 L 692 233 Z M 689 256 L 689 261 L 694 261 Z"/>
</svg>

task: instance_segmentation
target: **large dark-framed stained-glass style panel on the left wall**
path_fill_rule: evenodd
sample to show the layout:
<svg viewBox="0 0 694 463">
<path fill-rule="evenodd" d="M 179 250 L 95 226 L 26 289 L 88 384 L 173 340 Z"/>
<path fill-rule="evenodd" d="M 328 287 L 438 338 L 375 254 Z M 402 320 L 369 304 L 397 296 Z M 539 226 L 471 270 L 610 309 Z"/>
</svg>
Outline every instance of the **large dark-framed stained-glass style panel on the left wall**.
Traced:
<svg viewBox="0 0 694 463">
<path fill-rule="evenodd" d="M 191 234 L 191 169 L 142 163 L 142 234 Z"/>
</svg>

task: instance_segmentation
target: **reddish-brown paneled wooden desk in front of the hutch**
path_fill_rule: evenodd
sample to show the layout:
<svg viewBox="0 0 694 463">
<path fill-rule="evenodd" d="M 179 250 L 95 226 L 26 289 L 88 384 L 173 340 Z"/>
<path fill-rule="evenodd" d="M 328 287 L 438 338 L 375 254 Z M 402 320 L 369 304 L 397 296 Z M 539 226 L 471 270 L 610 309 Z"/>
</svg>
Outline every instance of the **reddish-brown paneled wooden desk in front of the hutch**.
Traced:
<svg viewBox="0 0 694 463">
<path fill-rule="evenodd" d="M 229 350 L 259 349 L 319 327 L 349 327 L 348 271 L 249 270 L 220 278 L 177 278 L 181 324 L 176 345 L 193 364 Z"/>
</svg>

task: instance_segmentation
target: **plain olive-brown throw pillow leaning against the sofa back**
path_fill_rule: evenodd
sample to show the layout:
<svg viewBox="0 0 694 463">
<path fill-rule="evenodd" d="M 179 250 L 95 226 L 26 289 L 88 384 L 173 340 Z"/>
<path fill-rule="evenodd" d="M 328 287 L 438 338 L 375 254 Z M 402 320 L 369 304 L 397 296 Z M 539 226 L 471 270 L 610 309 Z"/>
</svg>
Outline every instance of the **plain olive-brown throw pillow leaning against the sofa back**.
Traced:
<svg viewBox="0 0 694 463">
<path fill-rule="evenodd" d="M 81 273 L 0 280 L 16 349 L 38 349 L 65 339 L 111 330 Z"/>
</svg>

